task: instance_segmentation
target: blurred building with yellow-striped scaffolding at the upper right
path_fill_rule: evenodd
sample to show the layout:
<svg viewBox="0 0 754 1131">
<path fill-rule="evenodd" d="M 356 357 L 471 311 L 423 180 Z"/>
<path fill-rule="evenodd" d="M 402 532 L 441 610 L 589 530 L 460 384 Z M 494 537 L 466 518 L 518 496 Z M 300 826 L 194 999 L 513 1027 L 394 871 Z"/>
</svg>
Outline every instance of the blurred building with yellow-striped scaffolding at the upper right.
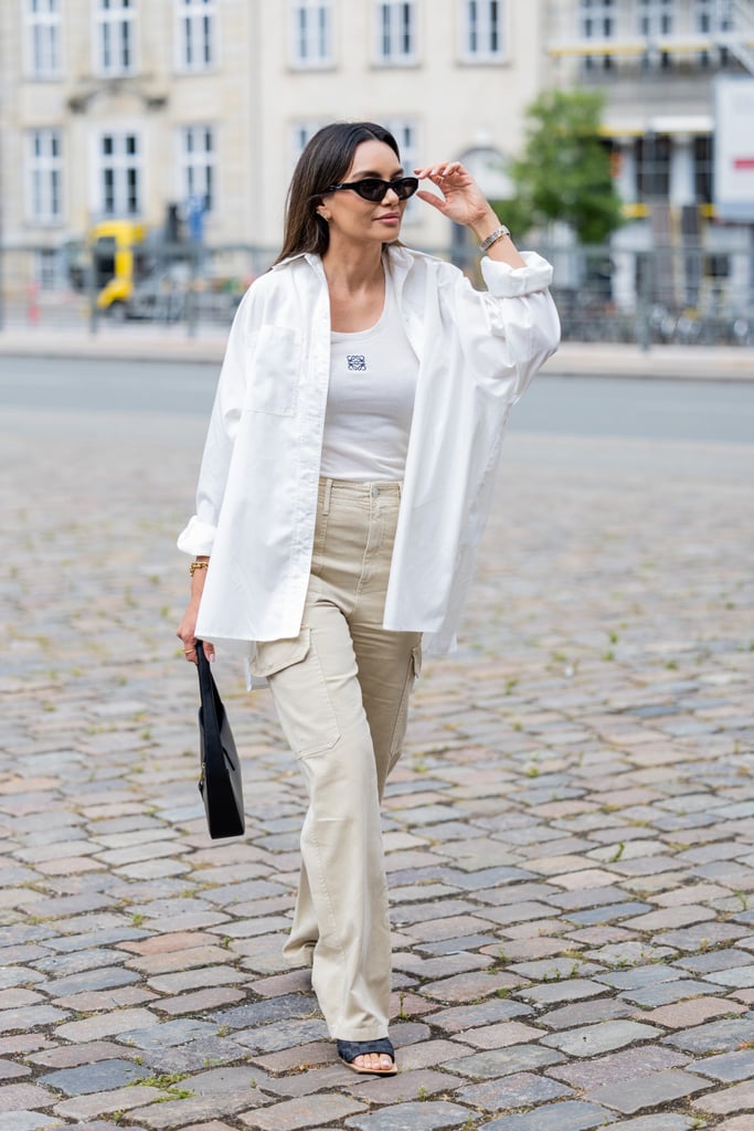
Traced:
<svg viewBox="0 0 754 1131">
<path fill-rule="evenodd" d="M 548 85 L 606 98 L 627 221 L 613 238 L 614 297 L 747 304 L 753 230 L 714 207 L 716 84 L 754 74 L 754 0 L 549 0 L 545 37 Z"/>
</svg>

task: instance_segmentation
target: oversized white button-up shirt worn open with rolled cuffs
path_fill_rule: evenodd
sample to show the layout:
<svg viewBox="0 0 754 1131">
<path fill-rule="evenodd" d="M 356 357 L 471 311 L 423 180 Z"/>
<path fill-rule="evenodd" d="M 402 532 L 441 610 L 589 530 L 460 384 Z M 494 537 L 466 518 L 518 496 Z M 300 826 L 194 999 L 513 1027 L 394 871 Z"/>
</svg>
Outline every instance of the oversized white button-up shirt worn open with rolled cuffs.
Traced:
<svg viewBox="0 0 754 1131">
<path fill-rule="evenodd" d="M 486 292 L 451 264 L 387 250 L 419 369 L 383 627 L 452 646 L 492 499 L 503 428 L 560 323 L 552 268 L 482 260 Z M 197 636 L 296 637 L 309 586 L 330 370 L 321 260 L 296 256 L 258 278 L 231 329 L 199 474 L 179 537 L 211 555 Z"/>
</svg>

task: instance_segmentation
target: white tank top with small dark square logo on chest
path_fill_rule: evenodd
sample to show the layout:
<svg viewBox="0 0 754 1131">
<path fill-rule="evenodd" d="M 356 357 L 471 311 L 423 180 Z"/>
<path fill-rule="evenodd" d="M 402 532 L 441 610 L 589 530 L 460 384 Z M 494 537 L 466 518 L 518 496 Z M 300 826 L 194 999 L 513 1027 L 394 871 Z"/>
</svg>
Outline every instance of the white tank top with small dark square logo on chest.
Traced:
<svg viewBox="0 0 754 1131">
<path fill-rule="evenodd" d="M 369 330 L 330 335 L 321 475 L 366 483 L 402 480 L 417 373 L 385 270 L 380 321 Z"/>
</svg>

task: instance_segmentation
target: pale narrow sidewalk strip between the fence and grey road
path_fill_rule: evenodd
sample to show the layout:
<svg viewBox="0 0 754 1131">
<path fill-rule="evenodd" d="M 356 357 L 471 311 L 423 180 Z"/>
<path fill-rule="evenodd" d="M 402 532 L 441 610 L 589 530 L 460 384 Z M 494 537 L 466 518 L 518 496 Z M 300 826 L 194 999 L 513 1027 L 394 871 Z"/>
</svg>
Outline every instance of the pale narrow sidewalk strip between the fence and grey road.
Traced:
<svg viewBox="0 0 754 1131">
<path fill-rule="evenodd" d="M 113 327 L 97 334 L 86 329 L 45 328 L 0 331 L 0 355 L 94 357 L 103 361 L 207 362 L 223 360 L 227 333 L 200 328 L 193 338 L 185 327 Z M 652 346 L 642 351 L 625 344 L 565 342 L 543 372 L 563 377 L 638 377 L 754 381 L 754 348 L 745 346 Z"/>
</svg>

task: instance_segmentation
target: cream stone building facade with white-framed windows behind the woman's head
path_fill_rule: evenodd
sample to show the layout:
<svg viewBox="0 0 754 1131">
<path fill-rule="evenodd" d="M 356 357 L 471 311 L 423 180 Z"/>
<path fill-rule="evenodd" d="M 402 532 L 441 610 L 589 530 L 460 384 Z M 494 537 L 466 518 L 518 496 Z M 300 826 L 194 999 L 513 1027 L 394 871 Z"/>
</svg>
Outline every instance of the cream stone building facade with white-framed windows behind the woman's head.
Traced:
<svg viewBox="0 0 754 1131">
<path fill-rule="evenodd" d="M 6 244 L 54 249 L 106 218 L 279 245 L 321 124 L 391 127 L 404 164 L 463 157 L 492 195 L 545 80 L 540 0 L 3 0 Z M 411 242 L 450 225 L 414 202 Z"/>
</svg>

